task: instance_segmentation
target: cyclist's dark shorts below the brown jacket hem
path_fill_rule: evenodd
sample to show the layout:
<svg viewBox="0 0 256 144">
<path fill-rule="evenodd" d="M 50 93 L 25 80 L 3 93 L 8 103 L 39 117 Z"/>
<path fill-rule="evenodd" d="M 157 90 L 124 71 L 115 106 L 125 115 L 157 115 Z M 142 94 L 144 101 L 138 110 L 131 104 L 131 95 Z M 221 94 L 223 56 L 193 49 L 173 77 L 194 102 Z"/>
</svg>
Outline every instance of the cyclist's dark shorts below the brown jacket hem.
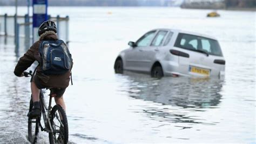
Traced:
<svg viewBox="0 0 256 144">
<path fill-rule="evenodd" d="M 33 77 L 33 81 L 35 82 L 38 89 L 49 88 L 49 87 L 43 86 L 38 80 L 37 76 Z M 51 91 L 50 95 L 56 94 L 56 97 L 60 98 L 65 93 L 66 88 L 49 88 L 49 90 Z"/>
</svg>

